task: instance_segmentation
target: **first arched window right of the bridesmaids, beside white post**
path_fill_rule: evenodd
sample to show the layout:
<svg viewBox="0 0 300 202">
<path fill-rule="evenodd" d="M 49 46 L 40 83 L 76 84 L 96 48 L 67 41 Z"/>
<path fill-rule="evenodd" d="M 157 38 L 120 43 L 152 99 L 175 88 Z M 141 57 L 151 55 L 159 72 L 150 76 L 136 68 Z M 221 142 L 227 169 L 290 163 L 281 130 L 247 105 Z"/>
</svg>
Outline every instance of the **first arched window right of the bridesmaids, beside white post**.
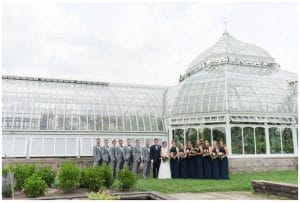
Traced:
<svg viewBox="0 0 300 202">
<path fill-rule="evenodd" d="M 243 154 L 243 143 L 242 143 L 242 128 L 232 127 L 231 128 L 231 151 L 232 154 Z"/>
</svg>

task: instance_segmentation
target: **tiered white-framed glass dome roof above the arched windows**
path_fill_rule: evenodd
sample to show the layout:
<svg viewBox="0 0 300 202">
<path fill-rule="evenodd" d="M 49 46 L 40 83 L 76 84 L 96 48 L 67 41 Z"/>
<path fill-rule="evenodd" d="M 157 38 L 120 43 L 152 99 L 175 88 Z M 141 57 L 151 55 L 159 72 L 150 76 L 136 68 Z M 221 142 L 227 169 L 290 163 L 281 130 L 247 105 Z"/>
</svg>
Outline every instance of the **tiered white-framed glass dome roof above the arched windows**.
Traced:
<svg viewBox="0 0 300 202">
<path fill-rule="evenodd" d="M 224 33 L 191 63 L 182 81 L 167 91 L 165 115 L 295 114 L 291 82 L 297 74 L 280 70 L 274 62 L 263 49 Z"/>
</svg>

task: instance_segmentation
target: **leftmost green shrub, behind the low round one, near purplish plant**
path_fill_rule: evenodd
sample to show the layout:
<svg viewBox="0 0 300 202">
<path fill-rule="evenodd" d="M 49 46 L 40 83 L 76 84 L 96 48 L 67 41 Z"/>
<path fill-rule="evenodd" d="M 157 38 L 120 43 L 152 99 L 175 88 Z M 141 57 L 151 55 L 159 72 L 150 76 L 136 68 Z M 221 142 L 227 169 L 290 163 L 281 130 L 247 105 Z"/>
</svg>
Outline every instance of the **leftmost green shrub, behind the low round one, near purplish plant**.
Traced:
<svg viewBox="0 0 300 202">
<path fill-rule="evenodd" d="M 16 164 L 11 167 L 16 179 L 16 189 L 21 190 L 24 188 L 25 180 L 32 176 L 35 172 L 34 164 Z"/>
</svg>

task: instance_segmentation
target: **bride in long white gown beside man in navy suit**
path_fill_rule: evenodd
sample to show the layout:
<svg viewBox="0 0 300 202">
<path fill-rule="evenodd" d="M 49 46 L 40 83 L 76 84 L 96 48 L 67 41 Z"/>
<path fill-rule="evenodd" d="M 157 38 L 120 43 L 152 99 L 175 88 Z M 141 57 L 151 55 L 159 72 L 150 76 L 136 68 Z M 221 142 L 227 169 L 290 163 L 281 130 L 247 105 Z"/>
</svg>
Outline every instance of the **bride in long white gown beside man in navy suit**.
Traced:
<svg viewBox="0 0 300 202">
<path fill-rule="evenodd" d="M 158 179 L 170 179 L 171 178 L 170 152 L 167 146 L 167 142 L 162 143 L 160 158 L 161 158 L 161 163 L 158 172 Z"/>
</svg>

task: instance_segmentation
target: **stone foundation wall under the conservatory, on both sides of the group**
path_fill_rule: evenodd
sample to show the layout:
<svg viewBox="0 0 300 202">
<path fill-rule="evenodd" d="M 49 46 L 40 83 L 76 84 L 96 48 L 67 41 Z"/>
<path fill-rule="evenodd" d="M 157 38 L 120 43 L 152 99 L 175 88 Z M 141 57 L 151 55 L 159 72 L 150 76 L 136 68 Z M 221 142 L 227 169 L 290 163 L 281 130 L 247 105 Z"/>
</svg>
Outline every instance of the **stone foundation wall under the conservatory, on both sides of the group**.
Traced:
<svg viewBox="0 0 300 202">
<path fill-rule="evenodd" d="M 76 161 L 80 167 L 92 166 L 92 157 L 81 158 L 11 158 L 2 159 L 2 166 L 5 167 L 8 162 L 14 164 L 35 163 L 40 165 L 50 165 L 54 169 L 59 168 L 66 161 Z M 269 170 L 297 170 L 297 157 L 269 157 L 269 158 L 230 158 L 229 172 L 249 172 L 249 171 L 269 171 Z"/>
</svg>

